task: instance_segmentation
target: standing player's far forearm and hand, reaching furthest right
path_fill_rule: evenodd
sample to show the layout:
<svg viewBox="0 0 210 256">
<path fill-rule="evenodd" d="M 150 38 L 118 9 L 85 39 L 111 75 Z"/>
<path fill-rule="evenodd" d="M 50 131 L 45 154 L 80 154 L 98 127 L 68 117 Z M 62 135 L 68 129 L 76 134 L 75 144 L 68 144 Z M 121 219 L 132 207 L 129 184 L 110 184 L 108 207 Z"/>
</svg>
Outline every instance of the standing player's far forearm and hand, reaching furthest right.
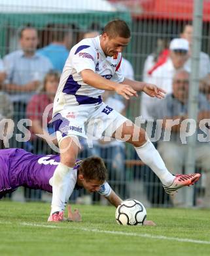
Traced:
<svg viewBox="0 0 210 256">
<path fill-rule="evenodd" d="M 140 81 L 133 81 L 128 78 L 125 78 L 122 84 L 130 85 L 135 91 L 143 91 L 147 95 L 156 98 L 164 98 L 166 91 L 157 87 L 156 85 L 152 85 L 150 83 L 144 83 Z"/>
</svg>

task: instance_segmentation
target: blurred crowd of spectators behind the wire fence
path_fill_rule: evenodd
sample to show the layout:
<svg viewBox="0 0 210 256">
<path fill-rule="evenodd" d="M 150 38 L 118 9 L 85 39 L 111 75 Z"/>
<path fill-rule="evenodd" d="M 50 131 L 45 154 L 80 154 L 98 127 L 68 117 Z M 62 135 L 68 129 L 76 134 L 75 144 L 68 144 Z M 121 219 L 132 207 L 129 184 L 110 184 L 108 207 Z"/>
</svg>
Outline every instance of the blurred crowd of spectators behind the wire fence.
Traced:
<svg viewBox="0 0 210 256">
<path fill-rule="evenodd" d="M 90 28 L 80 35 L 80 39 L 82 37 L 96 37 L 100 32 L 99 28 Z M 181 122 L 178 123 L 175 120 L 184 121 L 188 118 L 192 33 L 193 26 L 189 23 L 183 27 L 183 31 L 177 37 L 171 40 L 158 39 L 156 49 L 147 56 L 142 70 L 143 81 L 154 83 L 166 90 L 166 98 L 163 100 L 142 94 L 139 101 L 139 116 L 146 119 L 147 122 L 162 120 L 160 127 L 162 133 L 155 146 L 171 173 L 184 172 L 184 161 L 187 154 L 187 141 L 186 144 L 183 144 L 181 140 L 184 127 Z M 50 123 L 52 104 L 69 49 L 77 41 L 73 38 L 72 30 L 63 26 L 52 28 L 48 35 L 50 43 L 39 49 L 39 36 L 36 28 L 24 27 L 19 31 L 18 37 L 20 48 L 0 58 L 1 131 L 4 134 L 9 133 L 9 129 L 12 127 L 4 120 L 12 119 L 14 131 L 9 140 L 10 147 L 25 148 L 34 154 L 55 154 L 46 142 L 46 140 L 52 140 L 54 144 L 57 144 L 54 128 Z M 121 69 L 125 77 L 135 78 L 133 67 L 126 58 L 122 58 Z M 200 53 L 199 76 L 200 92 L 198 95 L 196 133 L 201 134 L 209 130 L 209 123 L 207 121 L 201 122 L 201 120 L 210 117 L 210 60 L 207 53 Z M 104 93 L 103 101 L 124 115 L 128 114 L 128 106 L 131 107 L 130 102 L 124 102 L 119 95 L 110 91 Z M 46 116 L 44 110 L 47 106 L 51 106 L 51 108 Z M 43 124 L 43 114 L 47 120 L 46 125 Z M 20 133 L 18 131 L 20 119 L 31 120 L 29 124 L 24 123 L 24 126 L 31 133 L 27 142 L 18 142 L 15 138 L 16 133 Z M 172 128 L 171 123 L 167 121 L 168 119 L 174 122 Z M 157 130 L 160 122 L 155 121 L 152 121 L 152 124 Z M 42 135 L 44 129 L 48 131 L 48 138 L 43 139 L 37 134 Z M 169 141 L 164 138 L 164 131 L 167 130 L 171 131 Z M 210 146 L 209 135 L 207 132 L 205 135 L 203 136 L 205 141 L 200 142 L 198 140 L 196 144 L 196 165 L 205 176 L 200 186 L 200 198 L 197 197 L 196 200 L 203 207 L 210 207 Z M 137 158 L 134 152 L 133 154 L 128 153 L 129 150 L 125 148 L 124 143 L 116 140 L 106 142 L 102 138 L 94 141 L 94 148 L 89 148 L 86 141 L 81 140 L 80 142 L 82 144 L 80 158 L 86 158 L 93 154 L 101 156 L 105 160 L 107 169 L 109 169 L 115 191 L 122 196 L 128 196 L 128 190 L 131 190 L 131 186 L 129 187 L 125 182 L 131 179 L 130 176 L 135 181 L 145 181 L 146 171 L 142 171 L 141 163 L 137 161 L 126 162 L 128 158 L 133 160 L 137 160 Z M 0 148 L 5 147 L 1 136 Z M 134 169 L 132 172 L 128 172 L 131 166 L 134 166 Z M 151 190 L 148 188 L 147 182 L 144 186 L 147 187 L 147 191 Z M 159 195 L 160 193 L 164 192 L 158 190 Z M 175 206 L 183 206 L 184 204 L 182 193 L 179 193 L 179 196 L 174 199 L 167 198 L 167 201 L 171 201 Z M 165 199 L 160 203 L 164 202 Z"/>
</svg>

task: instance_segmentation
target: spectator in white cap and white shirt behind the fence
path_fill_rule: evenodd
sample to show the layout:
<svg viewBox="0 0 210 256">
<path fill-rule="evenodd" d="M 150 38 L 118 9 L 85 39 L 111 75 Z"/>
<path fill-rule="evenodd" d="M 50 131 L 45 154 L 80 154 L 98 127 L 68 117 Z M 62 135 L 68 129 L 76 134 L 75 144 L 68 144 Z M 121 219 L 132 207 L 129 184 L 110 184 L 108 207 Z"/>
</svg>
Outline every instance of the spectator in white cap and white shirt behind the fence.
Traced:
<svg viewBox="0 0 210 256">
<path fill-rule="evenodd" d="M 186 60 L 188 59 L 189 45 L 186 39 L 175 38 L 169 45 L 169 58 L 167 61 L 159 66 L 152 72 L 149 80 L 146 79 L 146 83 L 153 83 L 164 89 L 167 93 L 172 92 L 172 80 L 173 75 L 177 70 L 184 67 Z M 188 70 L 189 71 L 189 70 Z M 141 116 L 144 119 L 150 119 L 148 108 L 150 105 L 155 104 L 156 99 L 150 98 L 145 93 L 141 96 Z"/>
</svg>

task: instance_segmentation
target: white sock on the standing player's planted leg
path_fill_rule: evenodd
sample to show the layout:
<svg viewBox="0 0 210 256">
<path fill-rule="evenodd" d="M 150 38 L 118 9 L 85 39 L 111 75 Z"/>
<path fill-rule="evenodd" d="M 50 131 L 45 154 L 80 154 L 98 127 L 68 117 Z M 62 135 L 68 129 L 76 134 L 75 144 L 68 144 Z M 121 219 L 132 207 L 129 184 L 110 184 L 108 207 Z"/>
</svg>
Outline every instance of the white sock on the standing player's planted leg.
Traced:
<svg viewBox="0 0 210 256">
<path fill-rule="evenodd" d="M 69 174 L 73 168 L 59 163 L 52 177 L 52 204 L 51 213 L 63 211 L 69 185 Z"/>
</svg>

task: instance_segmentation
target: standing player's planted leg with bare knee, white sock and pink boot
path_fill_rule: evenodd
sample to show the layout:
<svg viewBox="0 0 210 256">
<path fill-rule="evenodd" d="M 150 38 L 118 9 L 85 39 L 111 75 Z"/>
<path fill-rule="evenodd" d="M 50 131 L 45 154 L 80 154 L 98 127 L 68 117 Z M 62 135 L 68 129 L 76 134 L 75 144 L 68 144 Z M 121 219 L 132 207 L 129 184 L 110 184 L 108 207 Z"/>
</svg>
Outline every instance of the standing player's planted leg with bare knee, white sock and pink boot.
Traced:
<svg viewBox="0 0 210 256">
<path fill-rule="evenodd" d="M 73 170 L 79 147 L 74 139 L 66 137 L 60 143 L 60 163 L 52 179 L 52 204 L 48 221 L 62 221 L 66 194 L 69 187 L 69 175 Z"/>
</svg>

